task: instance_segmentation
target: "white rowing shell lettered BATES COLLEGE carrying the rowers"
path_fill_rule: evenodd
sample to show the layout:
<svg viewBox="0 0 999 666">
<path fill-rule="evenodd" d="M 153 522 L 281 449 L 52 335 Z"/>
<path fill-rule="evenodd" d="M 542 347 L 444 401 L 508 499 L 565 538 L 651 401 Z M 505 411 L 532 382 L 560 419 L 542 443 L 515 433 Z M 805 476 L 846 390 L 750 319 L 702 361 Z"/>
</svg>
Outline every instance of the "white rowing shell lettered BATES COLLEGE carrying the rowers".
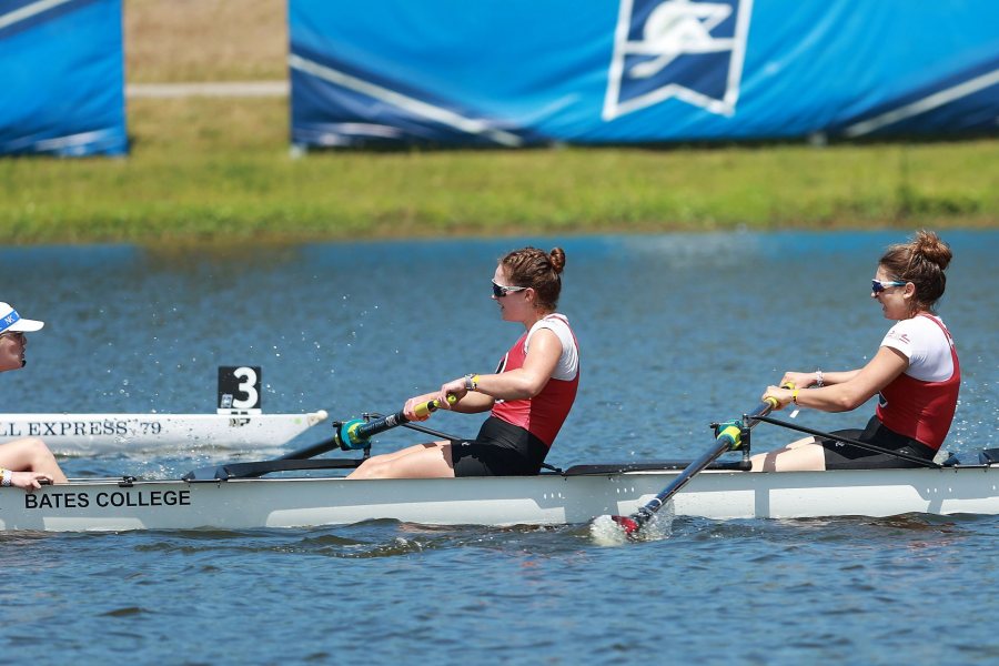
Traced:
<svg viewBox="0 0 999 666">
<path fill-rule="evenodd" d="M 583 466 L 528 477 L 346 481 L 74 480 L 32 494 L 0 488 L 0 527 L 37 531 L 248 529 L 390 518 L 428 525 L 582 524 L 629 515 L 679 470 Z M 707 470 L 673 498 L 676 515 L 805 518 L 999 514 L 999 463 L 937 470 L 751 473 Z"/>
</svg>

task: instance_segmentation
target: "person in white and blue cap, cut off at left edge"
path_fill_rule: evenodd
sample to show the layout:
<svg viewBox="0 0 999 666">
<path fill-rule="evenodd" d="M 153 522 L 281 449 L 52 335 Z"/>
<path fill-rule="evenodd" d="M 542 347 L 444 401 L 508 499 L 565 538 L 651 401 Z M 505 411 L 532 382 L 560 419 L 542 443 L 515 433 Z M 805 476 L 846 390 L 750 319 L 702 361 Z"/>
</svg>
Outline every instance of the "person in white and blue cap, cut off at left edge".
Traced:
<svg viewBox="0 0 999 666">
<path fill-rule="evenodd" d="M 0 303 L 0 372 L 24 367 L 26 333 L 41 330 L 44 322 L 22 317 L 7 303 Z M 18 486 L 26 491 L 48 483 L 65 483 L 56 456 L 38 437 L 21 437 L 0 444 L 0 486 Z"/>
</svg>

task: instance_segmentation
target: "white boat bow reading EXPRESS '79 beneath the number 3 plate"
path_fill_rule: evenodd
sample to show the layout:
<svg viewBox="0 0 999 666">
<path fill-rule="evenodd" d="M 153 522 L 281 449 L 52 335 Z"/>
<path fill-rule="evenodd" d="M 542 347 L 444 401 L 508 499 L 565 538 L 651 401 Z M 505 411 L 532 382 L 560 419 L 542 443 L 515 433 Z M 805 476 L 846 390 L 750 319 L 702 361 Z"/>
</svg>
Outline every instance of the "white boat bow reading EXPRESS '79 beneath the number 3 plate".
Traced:
<svg viewBox="0 0 999 666">
<path fill-rule="evenodd" d="M 59 455 L 274 448 L 322 423 L 307 414 L 4 414 L 0 443 L 41 437 Z"/>
</svg>

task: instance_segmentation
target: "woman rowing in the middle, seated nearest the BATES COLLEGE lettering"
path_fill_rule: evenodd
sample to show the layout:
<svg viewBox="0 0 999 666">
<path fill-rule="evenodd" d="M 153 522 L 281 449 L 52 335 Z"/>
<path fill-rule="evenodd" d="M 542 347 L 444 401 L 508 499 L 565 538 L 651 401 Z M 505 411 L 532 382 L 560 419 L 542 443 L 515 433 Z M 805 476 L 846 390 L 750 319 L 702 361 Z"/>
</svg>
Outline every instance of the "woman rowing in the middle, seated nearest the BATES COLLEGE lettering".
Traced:
<svg viewBox="0 0 999 666">
<path fill-rule="evenodd" d="M 562 291 L 565 252 L 515 250 L 500 260 L 493 300 L 504 321 L 525 332 L 500 362 L 495 374 L 468 374 L 440 391 L 406 401 L 414 408 L 438 400 L 443 408 L 467 414 L 492 412 L 471 442 L 417 444 L 376 455 L 350 478 L 524 476 L 537 474 L 565 422 L 579 385 L 579 351 L 568 320 L 555 312 Z M 447 396 L 456 402 L 448 405 Z"/>
</svg>

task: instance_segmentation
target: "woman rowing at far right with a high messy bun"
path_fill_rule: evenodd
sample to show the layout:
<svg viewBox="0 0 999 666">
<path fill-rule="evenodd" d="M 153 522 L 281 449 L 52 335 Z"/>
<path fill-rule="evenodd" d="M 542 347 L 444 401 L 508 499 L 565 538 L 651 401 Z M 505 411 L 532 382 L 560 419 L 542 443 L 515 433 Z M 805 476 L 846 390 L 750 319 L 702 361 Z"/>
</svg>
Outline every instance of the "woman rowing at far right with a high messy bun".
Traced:
<svg viewBox="0 0 999 666">
<path fill-rule="evenodd" d="M 780 384 L 795 389 L 769 386 L 764 398 L 777 398 L 781 408 L 794 402 L 824 412 L 847 412 L 880 393 L 867 427 L 833 434 L 931 461 L 950 430 L 961 383 L 953 340 L 934 311 L 944 295 L 944 271 L 950 259 L 950 248 L 930 231 L 888 248 L 878 262 L 870 295 L 885 317 L 897 323 L 874 359 L 849 372 L 785 373 Z M 754 471 L 769 472 L 912 466 L 918 463 L 818 437 L 753 457 Z"/>
</svg>

